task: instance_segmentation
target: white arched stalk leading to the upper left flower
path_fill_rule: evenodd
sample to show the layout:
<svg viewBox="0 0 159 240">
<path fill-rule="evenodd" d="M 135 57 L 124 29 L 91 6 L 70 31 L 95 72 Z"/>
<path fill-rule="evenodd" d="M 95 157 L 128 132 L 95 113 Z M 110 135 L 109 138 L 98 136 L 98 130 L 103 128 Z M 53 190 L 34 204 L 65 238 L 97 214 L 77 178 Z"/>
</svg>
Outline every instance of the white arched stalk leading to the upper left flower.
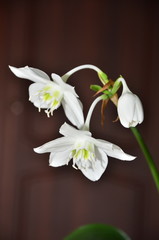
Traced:
<svg viewBox="0 0 159 240">
<path fill-rule="evenodd" d="M 67 72 L 66 74 L 64 74 L 62 76 L 62 79 L 64 82 L 67 81 L 67 79 L 75 72 L 82 70 L 82 69 L 92 69 L 94 71 L 96 71 L 97 73 L 102 72 L 98 67 L 92 65 L 92 64 L 84 64 L 78 67 L 73 68 L 72 70 L 70 70 L 69 72 Z"/>
</svg>

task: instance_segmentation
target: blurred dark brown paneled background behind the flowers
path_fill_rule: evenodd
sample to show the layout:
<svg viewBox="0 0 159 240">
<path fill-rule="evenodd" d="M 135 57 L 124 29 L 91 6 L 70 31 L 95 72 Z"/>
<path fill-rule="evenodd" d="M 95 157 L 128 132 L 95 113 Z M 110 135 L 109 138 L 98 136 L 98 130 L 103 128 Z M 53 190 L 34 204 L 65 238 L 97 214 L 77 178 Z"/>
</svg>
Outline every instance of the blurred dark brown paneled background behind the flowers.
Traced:
<svg viewBox="0 0 159 240">
<path fill-rule="evenodd" d="M 159 196 L 147 163 L 129 129 L 109 104 L 105 126 L 100 104 L 91 121 L 94 137 L 136 155 L 132 162 L 109 158 L 98 182 L 71 167 L 51 168 L 48 154 L 33 152 L 59 137 L 62 108 L 48 119 L 28 101 L 30 81 L 16 78 L 8 65 L 29 65 L 63 75 L 94 64 L 112 79 L 120 74 L 140 96 L 145 121 L 139 129 L 159 167 L 159 2 L 1 1 L 0 2 L 0 239 L 61 240 L 87 223 L 111 224 L 133 240 L 159 239 Z M 84 112 L 93 100 L 96 73 L 82 70 L 76 86 Z"/>
</svg>

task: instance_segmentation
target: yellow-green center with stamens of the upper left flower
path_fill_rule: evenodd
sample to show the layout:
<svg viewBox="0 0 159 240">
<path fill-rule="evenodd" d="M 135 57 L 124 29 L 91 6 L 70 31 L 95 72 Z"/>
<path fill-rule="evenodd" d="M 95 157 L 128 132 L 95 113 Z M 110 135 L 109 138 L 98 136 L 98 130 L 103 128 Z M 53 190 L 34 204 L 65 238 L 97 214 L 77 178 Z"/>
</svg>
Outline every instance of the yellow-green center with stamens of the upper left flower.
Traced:
<svg viewBox="0 0 159 240">
<path fill-rule="evenodd" d="M 58 86 L 46 85 L 43 89 L 38 91 L 38 96 L 42 104 L 46 105 L 46 114 L 48 117 L 53 115 L 53 111 L 61 105 L 63 93 Z M 39 111 L 41 109 L 39 108 Z"/>
</svg>

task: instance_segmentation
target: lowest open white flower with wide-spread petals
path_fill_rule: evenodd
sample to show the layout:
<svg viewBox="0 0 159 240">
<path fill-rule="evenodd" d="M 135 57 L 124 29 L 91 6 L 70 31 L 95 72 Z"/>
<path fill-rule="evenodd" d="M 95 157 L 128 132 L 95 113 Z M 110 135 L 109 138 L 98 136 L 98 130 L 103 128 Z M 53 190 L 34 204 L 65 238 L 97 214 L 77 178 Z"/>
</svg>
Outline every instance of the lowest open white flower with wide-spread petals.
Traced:
<svg viewBox="0 0 159 240">
<path fill-rule="evenodd" d="M 90 131 L 77 130 L 67 123 L 61 126 L 60 133 L 64 137 L 35 148 L 34 151 L 50 152 L 49 164 L 52 167 L 67 165 L 73 159 L 73 167 L 81 170 L 92 181 L 97 181 L 104 173 L 108 164 L 107 156 L 128 161 L 135 158 L 115 144 L 93 138 Z"/>
</svg>

